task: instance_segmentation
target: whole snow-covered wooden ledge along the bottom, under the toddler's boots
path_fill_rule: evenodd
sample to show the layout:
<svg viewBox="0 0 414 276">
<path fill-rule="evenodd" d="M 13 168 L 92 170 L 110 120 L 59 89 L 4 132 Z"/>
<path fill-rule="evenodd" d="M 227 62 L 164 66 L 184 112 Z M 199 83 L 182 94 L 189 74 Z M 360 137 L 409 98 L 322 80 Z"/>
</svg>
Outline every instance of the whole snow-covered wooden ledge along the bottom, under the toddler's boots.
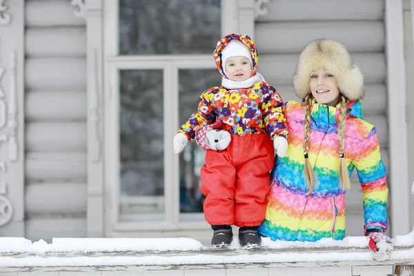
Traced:
<svg viewBox="0 0 414 276">
<path fill-rule="evenodd" d="M 376 262 L 366 237 L 342 241 L 272 242 L 239 248 L 235 236 L 228 250 L 203 246 L 195 239 L 0 237 L 0 274 L 28 275 L 410 275 L 414 266 L 414 231 L 394 239 L 391 259 Z M 411 268 L 410 268 L 411 266 Z M 39 274 L 37 274 L 39 275 Z"/>
</svg>

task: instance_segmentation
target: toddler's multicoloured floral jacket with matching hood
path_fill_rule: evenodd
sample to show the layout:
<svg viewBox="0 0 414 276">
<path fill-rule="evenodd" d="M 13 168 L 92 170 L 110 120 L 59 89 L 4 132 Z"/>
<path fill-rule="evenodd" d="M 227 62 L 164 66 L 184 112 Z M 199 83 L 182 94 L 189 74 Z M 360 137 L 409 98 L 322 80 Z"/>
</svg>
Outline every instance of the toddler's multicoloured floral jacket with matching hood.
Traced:
<svg viewBox="0 0 414 276">
<path fill-rule="evenodd" d="M 213 52 L 216 66 L 226 78 L 221 68 L 221 50 L 231 39 L 238 39 L 250 49 L 253 59 L 253 75 L 257 69 L 257 49 L 255 43 L 244 34 L 230 34 L 221 39 Z M 215 86 L 203 92 L 199 106 L 178 132 L 194 139 L 195 132 L 202 126 L 213 124 L 216 120 L 224 122 L 223 130 L 233 135 L 246 135 L 268 132 L 273 139 L 277 136 L 287 138 L 286 119 L 283 114 L 283 101 L 273 86 L 264 81 L 255 83 L 251 88 L 228 90 Z"/>
</svg>

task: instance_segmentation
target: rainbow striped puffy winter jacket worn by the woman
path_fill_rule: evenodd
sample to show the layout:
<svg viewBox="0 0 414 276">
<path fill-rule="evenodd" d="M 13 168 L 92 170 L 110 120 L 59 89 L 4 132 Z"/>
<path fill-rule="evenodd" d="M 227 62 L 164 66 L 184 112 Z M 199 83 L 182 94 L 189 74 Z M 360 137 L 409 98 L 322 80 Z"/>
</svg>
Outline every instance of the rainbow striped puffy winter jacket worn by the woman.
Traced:
<svg viewBox="0 0 414 276">
<path fill-rule="evenodd" d="M 362 119 L 360 101 L 348 104 L 344 156 L 351 176 L 356 168 L 362 186 L 365 230 L 388 226 L 386 168 L 380 155 L 375 127 Z M 259 233 L 271 239 L 314 242 L 345 236 L 345 191 L 339 186 L 337 138 L 339 106 L 313 103 L 309 161 L 317 182 L 310 195 L 304 179 L 304 107 L 288 101 L 288 151 L 277 157 L 268 195 L 266 219 Z M 351 185 L 352 186 L 352 185 Z M 355 187 L 353 187 L 355 188 Z"/>
</svg>

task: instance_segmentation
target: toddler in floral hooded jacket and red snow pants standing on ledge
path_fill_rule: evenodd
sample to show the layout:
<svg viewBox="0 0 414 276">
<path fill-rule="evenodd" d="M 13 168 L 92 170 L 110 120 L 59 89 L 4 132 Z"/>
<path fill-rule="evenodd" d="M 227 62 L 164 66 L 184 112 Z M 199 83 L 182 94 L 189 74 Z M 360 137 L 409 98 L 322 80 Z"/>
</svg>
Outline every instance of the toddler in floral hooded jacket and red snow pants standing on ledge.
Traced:
<svg viewBox="0 0 414 276">
<path fill-rule="evenodd" d="M 206 195 L 204 216 L 213 228 L 211 243 L 228 246 L 234 224 L 243 247 L 258 246 L 275 150 L 283 157 L 288 147 L 283 101 L 257 72 L 257 49 L 247 35 L 223 37 L 213 55 L 221 86 L 201 95 L 199 110 L 179 128 L 174 148 L 181 152 L 199 128 L 217 121 L 197 133 L 207 149 L 201 193 Z"/>
</svg>

